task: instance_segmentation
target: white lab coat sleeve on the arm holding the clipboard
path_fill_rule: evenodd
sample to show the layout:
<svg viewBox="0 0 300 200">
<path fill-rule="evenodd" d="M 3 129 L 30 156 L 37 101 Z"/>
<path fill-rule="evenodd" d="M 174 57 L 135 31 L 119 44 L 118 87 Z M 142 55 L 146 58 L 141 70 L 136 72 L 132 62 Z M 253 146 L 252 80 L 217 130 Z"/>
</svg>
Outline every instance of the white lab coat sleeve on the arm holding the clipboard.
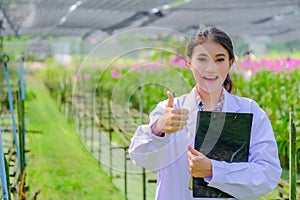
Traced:
<svg viewBox="0 0 300 200">
<path fill-rule="evenodd" d="M 271 123 L 266 113 L 255 107 L 249 161 L 228 163 L 212 160 L 213 176 L 205 178 L 209 186 L 243 200 L 258 199 L 274 189 L 282 171 Z"/>
</svg>

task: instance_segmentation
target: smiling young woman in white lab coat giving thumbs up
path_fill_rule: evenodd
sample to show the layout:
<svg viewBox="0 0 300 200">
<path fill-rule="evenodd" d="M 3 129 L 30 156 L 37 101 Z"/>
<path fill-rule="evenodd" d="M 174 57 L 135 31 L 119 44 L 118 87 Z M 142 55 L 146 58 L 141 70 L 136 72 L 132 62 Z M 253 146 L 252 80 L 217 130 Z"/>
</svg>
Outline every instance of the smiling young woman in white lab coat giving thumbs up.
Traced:
<svg viewBox="0 0 300 200">
<path fill-rule="evenodd" d="M 237 199 L 258 199 L 276 187 L 281 167 L 266 113 L 255 101 L 230 94 L 229 70 L 235 61 L 231 39 L 215 27 L 199 29 L 187 46 L 187 61 L 196 86 L 178 98 L 167 92 L 168 99 L 151 112 L 150 124 L 136 130 L 131 160 L 158 171 L 158 200 L 194 199 L 191 176 Z M 253 113 L 248 162 L 221 162 L 192 148 L 199 109 Z"/>
</svg>

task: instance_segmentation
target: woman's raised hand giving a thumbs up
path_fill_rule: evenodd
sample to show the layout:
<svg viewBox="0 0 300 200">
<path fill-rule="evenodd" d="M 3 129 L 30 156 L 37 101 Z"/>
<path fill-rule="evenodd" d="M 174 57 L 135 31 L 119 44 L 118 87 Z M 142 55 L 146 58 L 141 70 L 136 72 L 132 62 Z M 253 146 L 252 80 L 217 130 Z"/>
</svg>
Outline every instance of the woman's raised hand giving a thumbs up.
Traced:
<svg viewBox="0 0 300 200">
<path fill-rule="evenodd" d="M 174 96 L 168 91 L 168 105 L 164 114 L 158 119 L 156 130 L 171 134 L 182 130 L 187 124 L 188 110 L 186 108 L 174 108 Z"/>
</svg>

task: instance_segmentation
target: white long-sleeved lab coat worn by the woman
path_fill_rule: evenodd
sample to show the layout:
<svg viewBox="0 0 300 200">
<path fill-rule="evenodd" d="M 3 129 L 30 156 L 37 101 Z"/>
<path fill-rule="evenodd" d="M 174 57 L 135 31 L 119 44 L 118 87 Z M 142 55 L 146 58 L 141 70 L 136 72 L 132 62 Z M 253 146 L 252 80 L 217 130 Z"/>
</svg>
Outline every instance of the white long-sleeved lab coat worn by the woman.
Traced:
<svg viewBox="0 0 300 200">
<path fill-rule="evenodd" d="M 281 167 L 274 133 L 266 113 L 251 99 L 229 94 L 225 89 L 224 112 L 253 113 L 249 162 L 227 163 L 212 160 L 212 177 L 205 181 L 237 199 L 254 200 L 274 189 L 280 179 Z M 150 113 L 149 125 L 137 128 L 129 148 L 131 160 L 150 171 L 158 171 L 157 200 L 190 200 L 190 181 L 187 146 L 194 146 L 198 112 L 195 88 L 186 95 L 175 98 L 174 107 L 187 108 L 186 127 L 173 134 L 158 137 L 151 125 L 163 113 L 167 100 L 160 102 Z M 199 199 L 199 198 L 197 198 Z"/>
</svg>

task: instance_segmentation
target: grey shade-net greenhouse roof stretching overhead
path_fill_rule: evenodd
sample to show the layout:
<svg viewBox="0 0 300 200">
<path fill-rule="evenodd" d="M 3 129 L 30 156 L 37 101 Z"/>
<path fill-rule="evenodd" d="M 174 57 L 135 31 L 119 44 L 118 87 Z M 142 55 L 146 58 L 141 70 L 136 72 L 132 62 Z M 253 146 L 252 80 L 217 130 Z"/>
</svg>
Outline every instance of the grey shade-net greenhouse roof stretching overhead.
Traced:
<svg viewBox="0 0 300 200">
<path fill-rule="evenodd" d="M 189 33 L 200 24 L 243 38 L 300 40 L 299 0 L 2 0 L 2 36 L 83 39 L 137 27 Z"/>
</svg>

